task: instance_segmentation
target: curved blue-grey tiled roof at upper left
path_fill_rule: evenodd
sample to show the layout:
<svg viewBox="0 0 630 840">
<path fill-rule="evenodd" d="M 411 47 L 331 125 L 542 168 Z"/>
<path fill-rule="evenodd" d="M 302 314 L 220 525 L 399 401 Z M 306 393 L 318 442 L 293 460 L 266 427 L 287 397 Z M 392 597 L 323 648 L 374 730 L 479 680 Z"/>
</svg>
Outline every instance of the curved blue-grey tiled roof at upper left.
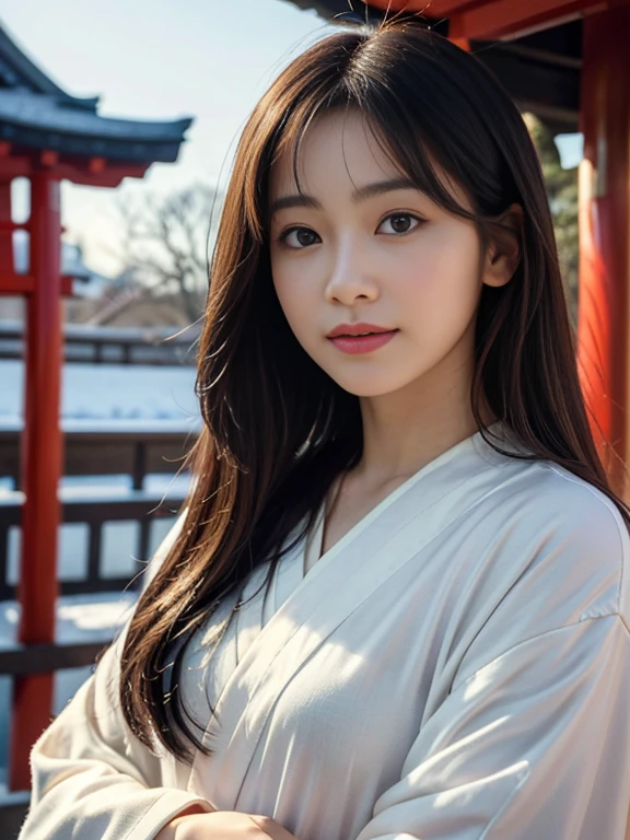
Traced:
<svg viewBox="0 0 630 840">
<path fill-rule="evenodd" d="M 0 25 L 0 141 L 73 158 L 172 163 L 192 122 L 102 117 L 97 106 L 98 97 L 78 98 L 61 90 Z"/>
</svg>

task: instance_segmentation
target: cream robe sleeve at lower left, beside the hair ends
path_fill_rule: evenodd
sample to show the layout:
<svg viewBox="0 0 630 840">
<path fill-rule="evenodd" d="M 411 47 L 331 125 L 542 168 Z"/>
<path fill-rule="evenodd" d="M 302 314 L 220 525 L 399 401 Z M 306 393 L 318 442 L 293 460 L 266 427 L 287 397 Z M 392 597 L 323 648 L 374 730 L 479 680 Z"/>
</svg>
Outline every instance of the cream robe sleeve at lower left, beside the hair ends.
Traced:
<svg viewBox="0 0 630 840">
<path fill-rule="evenodd" d="M 180 526 L 179 518 L 150 567 L 161 561 Z M 119 663 L 129 620 L 33 746 L 31 807 L 19 840 L 150 840 L 192 804 L 213 809 L 206 800 L 163 784 L 164 758 L 138 740 L 122 718 Z"/>
</svg>

